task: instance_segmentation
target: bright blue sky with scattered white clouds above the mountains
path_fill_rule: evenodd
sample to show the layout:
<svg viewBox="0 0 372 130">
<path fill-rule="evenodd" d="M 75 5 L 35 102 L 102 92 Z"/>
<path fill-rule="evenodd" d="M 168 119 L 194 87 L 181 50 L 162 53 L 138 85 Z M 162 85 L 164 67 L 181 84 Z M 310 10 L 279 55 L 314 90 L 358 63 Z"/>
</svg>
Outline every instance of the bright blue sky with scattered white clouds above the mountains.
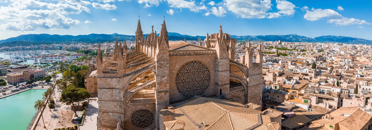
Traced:
<svg viewBox="0 0 372 130">
<path fill-rule="evenodd" d="M 23 34 L 336 35 L 372 40 L 372 0 L 0 0 L 0 39 Z M 140 17 L 138 17 L 140 16 Z M 165 16 L 165 17 L 164 17 Z"/>
</svg>

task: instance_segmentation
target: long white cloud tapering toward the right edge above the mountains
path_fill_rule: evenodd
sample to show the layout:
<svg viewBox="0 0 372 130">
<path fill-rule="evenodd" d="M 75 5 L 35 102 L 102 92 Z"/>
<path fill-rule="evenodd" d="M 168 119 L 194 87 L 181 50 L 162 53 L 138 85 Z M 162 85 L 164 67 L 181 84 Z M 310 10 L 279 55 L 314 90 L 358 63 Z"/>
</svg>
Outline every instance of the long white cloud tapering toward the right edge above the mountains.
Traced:
<svg viewBox="0 0 372 130">
<path fill-rule="evenodd" d="M 306 10 L 306 14 L 304 15 L 306 20 L 315 21 L 320 19 L 327 19 L 327 23 L 334 23 L 336 25 L 353 25 L 353 24 L 367 24 L 371 25 L 371 23 L 366 22 L 365 20 L 359 20 L 354 18 L 345 18 L 341 16 L 334 10 L 331 9 L 313 9 L 312 11 Z"/>
</svg>

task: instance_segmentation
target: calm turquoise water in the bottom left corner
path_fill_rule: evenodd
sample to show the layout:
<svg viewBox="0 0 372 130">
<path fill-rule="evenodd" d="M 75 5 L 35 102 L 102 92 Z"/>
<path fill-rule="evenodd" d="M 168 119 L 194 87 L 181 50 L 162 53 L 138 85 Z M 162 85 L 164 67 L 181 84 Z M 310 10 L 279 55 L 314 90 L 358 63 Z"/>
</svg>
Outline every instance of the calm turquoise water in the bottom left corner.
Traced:
<svg viewBox="0 0 372 130">
<path fill-rule="evenodd" d="M 35 101 L 42 98 L 45 89 L 31 89 L 0 99 L 0 129 L 27 130 L 36 113 Z"/>
</svg>

